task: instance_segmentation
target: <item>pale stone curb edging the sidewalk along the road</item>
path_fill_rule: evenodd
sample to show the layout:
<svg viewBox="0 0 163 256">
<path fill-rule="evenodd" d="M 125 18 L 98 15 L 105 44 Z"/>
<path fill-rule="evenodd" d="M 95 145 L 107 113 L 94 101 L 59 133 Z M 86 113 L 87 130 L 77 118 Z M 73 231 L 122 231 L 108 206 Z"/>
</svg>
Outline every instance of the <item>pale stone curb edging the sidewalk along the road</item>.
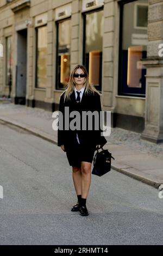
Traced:
<svg viewBox="0 0 163 256">
<path fill-rule="evenodd" d="M 30 132 L 33 135 L 37 136 L 37 137 L 40 137 L 42 139 L 45 139 L 48 142 L 51 142 L 51 143 L 54 143 L 54 144 L 57 145 L 57 141 L 52 139 L 51 136 L 49 136 L 48 133 L 42 132 L 42 131 L 40 131 L 38 129 L 35 129 L 35 128 L 31 128 L 28 125 L 20 124 L 17 121 L 14 121 L 14 120 L 11 121 L 11 119 L 9 119 L 9 118 L 0 118 L 0 123 L 1 124 L 6 123 L 6 124 L 9 124 L 11 126 L 18 127 L 20 129 L 23 129 L 24 131 Z M 143 176 L 131 173 L 131 172 L 127 171 L 128 168 L 117 168 L 114 164 L 111 164 L 111 168 L 116 170 L 119 173 L 127 175 L 130 178 L 133 178 L 135 180 L 141 181 L 142 183 L 145 183 L 145 184 L 147 184 L 149 186 L 152 186 L 152 187 L 154 187 L 156 189 L 158 189 L 162 185 L 160 182 L 153 181 L 153 180 L 151 180 L 149 178 L 146 178 L 146 177 L 143 177 Z M 129 168 L 132 168 L 132 167 L 129 167 Z"/>
</svg>

